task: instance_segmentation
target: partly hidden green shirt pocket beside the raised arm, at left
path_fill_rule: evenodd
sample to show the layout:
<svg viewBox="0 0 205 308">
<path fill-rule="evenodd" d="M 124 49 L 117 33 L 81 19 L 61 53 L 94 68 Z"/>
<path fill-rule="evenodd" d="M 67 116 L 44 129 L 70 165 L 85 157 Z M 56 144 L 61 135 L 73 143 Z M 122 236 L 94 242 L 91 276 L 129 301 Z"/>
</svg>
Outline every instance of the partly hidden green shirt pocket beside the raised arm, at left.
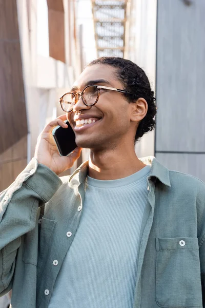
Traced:
<svg viewBox="0 0 205 308">
<path fill-rule="evenodd" d="M 55 227 L 56 221 L 47 219 L 44 216 L 40 218 L 38 232 L 38 262 L 37 262 L 37 280 L 42 276 L 43 265 L 47 260 L 50 239 Z"/>
</svg>

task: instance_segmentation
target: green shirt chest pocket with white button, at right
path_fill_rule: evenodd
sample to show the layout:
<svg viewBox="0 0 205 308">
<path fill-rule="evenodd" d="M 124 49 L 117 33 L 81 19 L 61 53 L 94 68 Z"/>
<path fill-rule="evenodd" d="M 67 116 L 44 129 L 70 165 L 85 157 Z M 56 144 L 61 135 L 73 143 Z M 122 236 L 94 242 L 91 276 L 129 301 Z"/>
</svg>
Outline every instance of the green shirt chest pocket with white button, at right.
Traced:
<svg viewBox="0 0 205 308">
<path fill-rule="evenodd" d="M 202 307 L 197 238 L 156 239 L 156 302 L 160 307 Z"/>
</svg>

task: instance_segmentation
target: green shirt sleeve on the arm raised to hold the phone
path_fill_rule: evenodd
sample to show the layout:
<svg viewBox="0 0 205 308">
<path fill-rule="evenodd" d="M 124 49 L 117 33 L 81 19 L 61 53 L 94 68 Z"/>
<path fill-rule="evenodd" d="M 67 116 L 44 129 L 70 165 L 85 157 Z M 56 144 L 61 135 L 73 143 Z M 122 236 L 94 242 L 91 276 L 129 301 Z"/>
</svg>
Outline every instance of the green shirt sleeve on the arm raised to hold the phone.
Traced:
<svg viewBox="0 0 205 308">
<path fill-rule="evenodd" d="M 12 287 L 21 236 L 35 228 L 38 207 L 48 202 L 61 184 L 51 169 L 33 158 L 0 194 L 0 295 Z"/>
</svg>

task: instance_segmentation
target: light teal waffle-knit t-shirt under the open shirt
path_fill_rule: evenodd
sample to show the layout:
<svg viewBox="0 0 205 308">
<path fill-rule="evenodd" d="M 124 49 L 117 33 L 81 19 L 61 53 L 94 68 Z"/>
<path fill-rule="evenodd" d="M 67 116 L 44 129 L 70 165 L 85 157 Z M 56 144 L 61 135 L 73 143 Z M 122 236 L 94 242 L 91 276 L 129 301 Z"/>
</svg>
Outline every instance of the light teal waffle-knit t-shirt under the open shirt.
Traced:
<svg viewBox="0 0 205 308">
<path fill-rule="evenodd" d="M 110 181 L 87 177 L 79 227 L 49 308 L 133 307 L 150 170 L 148 165 L 129 177 Z"/>
</svg>

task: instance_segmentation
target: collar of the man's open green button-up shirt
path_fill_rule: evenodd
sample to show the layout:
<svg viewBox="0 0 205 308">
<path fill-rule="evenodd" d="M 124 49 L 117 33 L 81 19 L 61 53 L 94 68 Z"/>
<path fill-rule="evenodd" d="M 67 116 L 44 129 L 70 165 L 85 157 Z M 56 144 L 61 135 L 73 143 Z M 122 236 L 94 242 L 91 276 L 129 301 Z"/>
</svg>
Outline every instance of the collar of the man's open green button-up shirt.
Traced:
<svg viewBox="0 0 205 308">
<path fill-rule="evenodd" d="M 169 177 L 169 169 L 162 164 L 154 157 L 148 156 L 139 159 L 142 163 L 146 165 L 151 165 L 151 171 L 149 177 L 157 178 L 161 183 L 171 187 L 170 177 Z M 81 164 L 70 176 L 69 183 L 72 184 L 80 184 L 85 181 L 88 175 L 88 161 Z"/>
</svg>

